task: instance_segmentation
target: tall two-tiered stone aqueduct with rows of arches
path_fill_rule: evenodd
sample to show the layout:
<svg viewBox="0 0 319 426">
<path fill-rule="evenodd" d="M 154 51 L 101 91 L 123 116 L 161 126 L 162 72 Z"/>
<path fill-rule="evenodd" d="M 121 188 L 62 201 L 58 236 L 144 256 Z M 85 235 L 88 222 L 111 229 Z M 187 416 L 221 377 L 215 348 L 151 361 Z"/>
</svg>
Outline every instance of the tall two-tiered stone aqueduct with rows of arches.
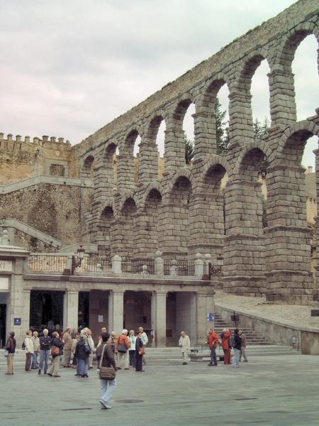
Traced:
<svg viewBox="0 0 319 426">
<path fill-rule="evenodd" d="M 159 249 L 163 257 L 177 259 L 211 253 L 214 262 L 222 253 L 225 291 L 262 293 L 278 303 L 313 300 L 301 158 L 307 139 L 319 136 L 319 110 L 314 105 L 316 115 L 296 121 L 291 62 L 307 35 L 319 40 L 318 12 L 318 1 L 298 1 L 77 146 L 82 176 L 94 177 L 92 209 L 87 213 L 91 242 L 123 257 L 150 257 Z M 272 121 L 267 138 L 255 141 L 250 85 L 262 60 L 270 69 Z M 218 155 L 214 104 L 223 84 L 230 93 L 230 146 Z M 189 167 L 182 126 L 191 103 L 196 106 L 195 156 Z M 164 177 L 159 180 L 156 137 L 162 120 Z M 138 135 L 135 185 L 133 146 Z M 265 157 L 269 166 L 264 228 L 257 174 Z M 319 151 L 316 157 L 319 170 Z M 223 195 L 220 180 L 225 173 Z"/>
</svg>

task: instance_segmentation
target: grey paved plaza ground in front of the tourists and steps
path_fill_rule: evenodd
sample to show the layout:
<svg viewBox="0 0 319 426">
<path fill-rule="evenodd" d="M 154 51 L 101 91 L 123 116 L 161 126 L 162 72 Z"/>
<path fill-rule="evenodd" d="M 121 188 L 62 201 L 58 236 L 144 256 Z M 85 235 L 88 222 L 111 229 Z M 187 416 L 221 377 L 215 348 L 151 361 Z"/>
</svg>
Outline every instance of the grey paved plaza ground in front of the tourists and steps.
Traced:
<svg viewBox="0 0 319 426">
<path fill-rule="evenodd" d="M 318 426 L 318 356 L 255 357 L 240 368 L 150 361 L 145 373 L 119 371 L 112 410 L 99 406 L 96 370 L 88 379 L 0 367 L 1 426 Z"/>
</svg>

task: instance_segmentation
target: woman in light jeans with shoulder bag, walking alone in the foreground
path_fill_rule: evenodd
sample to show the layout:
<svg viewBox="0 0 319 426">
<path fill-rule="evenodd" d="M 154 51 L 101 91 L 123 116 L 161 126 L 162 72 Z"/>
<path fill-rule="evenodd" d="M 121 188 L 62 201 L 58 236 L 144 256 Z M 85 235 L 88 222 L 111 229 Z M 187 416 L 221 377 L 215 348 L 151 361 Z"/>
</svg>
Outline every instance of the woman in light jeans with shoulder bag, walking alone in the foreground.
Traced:
<svg viewBox="0 0 319 426">
<path fill-rule="evenodd" d="M 101 367 L 113 367 L 116 371 L 116 361 L 114 359 L 114 352 L 111 348 L 111 344 L 108 342 L 110 339 L 109 333 L 101 334 L 101 344 L 96 348 L 96 361 L 98 368 Z M 98 371 L 99 372 L 99 371 Z M 100 404 L 102 410 L 109 410 L 109 400 L 116 390 L 116 378 L 113 380 L 103 380 L 100 378 L 101 383 L 101 398 Z"/>
</svg>

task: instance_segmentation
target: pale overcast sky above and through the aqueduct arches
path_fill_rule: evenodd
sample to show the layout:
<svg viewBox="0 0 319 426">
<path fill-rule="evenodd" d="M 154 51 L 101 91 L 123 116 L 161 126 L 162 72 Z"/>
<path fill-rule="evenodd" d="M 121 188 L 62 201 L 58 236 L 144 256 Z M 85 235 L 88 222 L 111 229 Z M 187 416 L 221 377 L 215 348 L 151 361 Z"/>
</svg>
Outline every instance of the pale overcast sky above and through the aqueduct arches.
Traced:
<svg viewBox="0 0 319 426">
<path fill-rule="evenodd" d="M 78 143 L 293 2 L 0 0 L 0 131 Z M 300 119 L 318 107 L 317 48 L 306 38 L 293 64 Z M 252 86 L 261 120 L 269 114 L 265 65 Z M 220 99 L 226 109 L 227 93 Z"/>
</svg>

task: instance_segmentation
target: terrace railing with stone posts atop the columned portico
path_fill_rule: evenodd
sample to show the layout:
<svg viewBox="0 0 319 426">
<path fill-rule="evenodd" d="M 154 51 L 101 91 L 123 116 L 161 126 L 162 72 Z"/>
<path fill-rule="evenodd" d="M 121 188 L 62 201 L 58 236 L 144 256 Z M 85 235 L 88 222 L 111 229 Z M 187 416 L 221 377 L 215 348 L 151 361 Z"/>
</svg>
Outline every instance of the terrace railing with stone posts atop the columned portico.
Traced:
<svg viewBox="0 0 319 426">
<path fill-rule="evenodd" d="M 72 271 L 72 257 L 75 253 L 31 253 L 28 258 L 28 271 L 32 273 L 64 273 Z M 113 258 L 107 256 L 84 256 L 81 266 L 74 269 L 74 273 L 114 273 L 155 275 L 162 278 L 189 276 L 202 279 L 209 275 L 211 255 L 206 254 L 203 259 L 201 253 L 196 254 L 195 261 L 164 260 L 162 253 L 157 251 L 154 258 L 135 258 L 123 261 L 121 256 Z"/>
</svg>

